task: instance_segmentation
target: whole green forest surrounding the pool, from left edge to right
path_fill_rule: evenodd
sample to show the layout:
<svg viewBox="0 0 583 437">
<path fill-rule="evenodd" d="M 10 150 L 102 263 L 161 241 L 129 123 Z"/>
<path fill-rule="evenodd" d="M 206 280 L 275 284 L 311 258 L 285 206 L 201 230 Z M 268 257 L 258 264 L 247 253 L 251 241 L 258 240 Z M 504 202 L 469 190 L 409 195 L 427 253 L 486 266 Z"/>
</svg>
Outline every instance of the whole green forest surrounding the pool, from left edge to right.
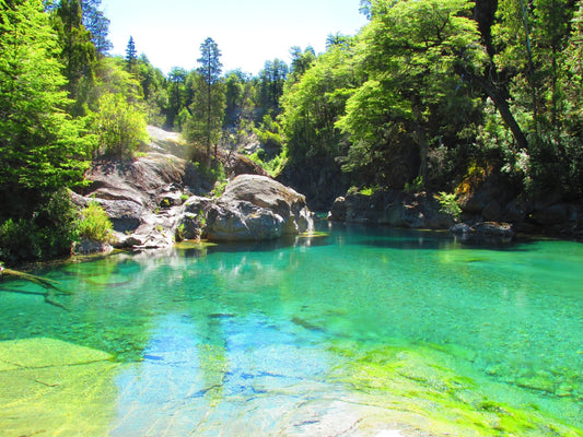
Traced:
<svg viewBox="0 0 583 437">
<path fill-rule="evenodd" d="M 459 196 L 494 177 L 513 196 L 583 197 L 581 0 L 362 0 L 368 24 L 289 64 L 164 74 L 129 38 L 112 56 L 101 0 L 0 0 L 0 260 L 67 256 L 69 190 L 94 160 L 131 160 L 147 126 L 182 132 L 222 175 L 221 150 L 331 205 L 347 190 Z M 143 52 L 143 54 L 142 54 Z M 141 54 L 141 55 L 140 55 Z M 179 60 L 177 60 L 179 61 Z"/>
</svg>

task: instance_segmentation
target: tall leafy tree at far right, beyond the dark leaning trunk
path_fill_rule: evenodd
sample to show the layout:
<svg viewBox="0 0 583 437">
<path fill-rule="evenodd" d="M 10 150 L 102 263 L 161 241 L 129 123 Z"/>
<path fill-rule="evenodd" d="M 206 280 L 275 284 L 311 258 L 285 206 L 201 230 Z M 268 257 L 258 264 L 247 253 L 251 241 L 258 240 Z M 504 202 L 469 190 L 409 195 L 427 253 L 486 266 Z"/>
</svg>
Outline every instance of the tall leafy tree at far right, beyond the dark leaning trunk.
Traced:
<svg viewBox="0 0 583 437">
<path fill-rule="evenodd" d="M 509 162 L 536 196 L 581 192 L 573 166 L 581 162 L 573 146 L 576 131 L 567 122 L 574 95 L 565 54 L 575 11 L 568 0 L 501 0 L 492 27 L 498 48 L 493 62 L 506 78 L 510 109 L 527 133 L 520 151 L 509 154 Z M 521 161 L 527 164 L 513 163 Z"/>
</svg>

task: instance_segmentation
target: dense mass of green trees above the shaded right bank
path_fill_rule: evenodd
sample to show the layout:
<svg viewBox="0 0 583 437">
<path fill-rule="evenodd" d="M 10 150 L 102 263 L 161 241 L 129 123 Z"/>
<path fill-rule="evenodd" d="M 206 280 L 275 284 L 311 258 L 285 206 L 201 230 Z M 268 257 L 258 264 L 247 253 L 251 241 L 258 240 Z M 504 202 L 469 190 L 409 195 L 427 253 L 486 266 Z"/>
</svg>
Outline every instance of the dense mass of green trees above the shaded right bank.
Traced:
<svg viewBox="0 0 583 437">
<path fill-rule="evenodd" d="M 453 190 L 478 167 L 535 197 L 581 197 L 581 2 L 363 7 L 355 42 L 285 87 L 290 160 L 333 156 L 360 186 Z"/>
</svg>

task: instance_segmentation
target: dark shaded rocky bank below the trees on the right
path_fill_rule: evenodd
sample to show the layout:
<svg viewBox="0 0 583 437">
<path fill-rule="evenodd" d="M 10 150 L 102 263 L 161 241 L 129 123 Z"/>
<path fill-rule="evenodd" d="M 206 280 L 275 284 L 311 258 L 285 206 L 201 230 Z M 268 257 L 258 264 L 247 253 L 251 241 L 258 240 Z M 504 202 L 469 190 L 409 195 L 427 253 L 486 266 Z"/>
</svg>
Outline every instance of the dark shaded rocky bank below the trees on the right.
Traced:
<svg viewBox="0 0 583 437">
<path fill-rule="evenodd" d="M 458 201 L 459 221 L 444 212 L 438 196 L 400 190 L 377 190 L 371 196 L 348 193 L 335 200 L 331 221 L 395 227 L 451 229 L 462 240 L 510 240 L 515 233 L 583 239 L 582 202 L 504 200 L 480 192 Z"/>
</svg>

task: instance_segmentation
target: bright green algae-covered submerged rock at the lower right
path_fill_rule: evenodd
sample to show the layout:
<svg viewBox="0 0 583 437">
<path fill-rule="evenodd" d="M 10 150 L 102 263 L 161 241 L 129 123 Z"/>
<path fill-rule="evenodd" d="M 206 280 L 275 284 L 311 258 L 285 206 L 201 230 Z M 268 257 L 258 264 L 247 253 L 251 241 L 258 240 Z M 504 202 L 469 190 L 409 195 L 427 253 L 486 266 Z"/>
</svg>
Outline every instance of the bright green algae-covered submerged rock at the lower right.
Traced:
<svg viewBox="0 0 583 437">
<path fill-rule="evenodd" d="M 351 342 L 337 342 L 330 351 L 351 356 L 333 370 L 334 380 L 359 392 L 362 403 L 384 406 L 384 420 L 429 435 L 581 435 L 546 411 L 544 397 L 533 403 L 516 388 L 485 378 L 469 361 L 459 359 L 458 351 L 454 357 L 442 345 L 395 343 L 362 350 Z"/>
</svg>

